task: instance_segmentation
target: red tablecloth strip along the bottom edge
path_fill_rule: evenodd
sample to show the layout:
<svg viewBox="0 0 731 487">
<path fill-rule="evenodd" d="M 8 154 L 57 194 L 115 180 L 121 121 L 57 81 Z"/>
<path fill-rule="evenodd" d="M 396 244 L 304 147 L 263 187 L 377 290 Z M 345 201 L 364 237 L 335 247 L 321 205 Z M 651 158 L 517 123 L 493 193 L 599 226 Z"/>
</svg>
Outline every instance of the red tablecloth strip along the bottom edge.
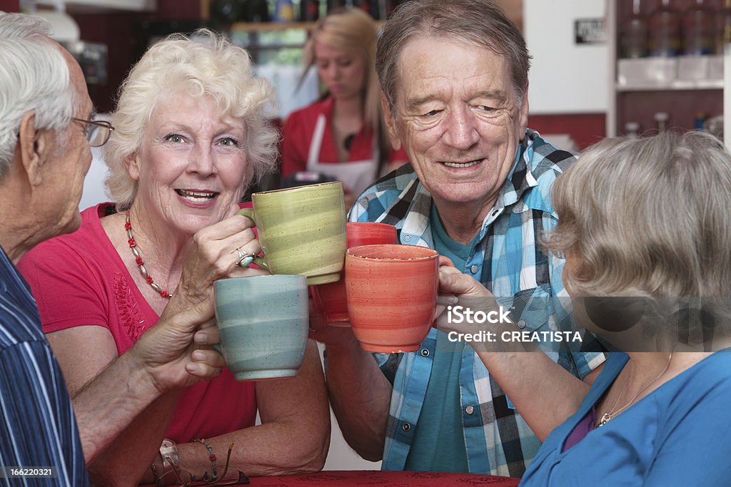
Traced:
<svg viewBox="0 0 731 487">
<path fill-rule="evenodd" d="M 279 475 L 251 478 L 251 486 L 321 487 L 321 486 L 384 486 L 384 487 L 448 487 L 501 486 L 515 487 L 519 478 L 496 477 L 469 473 L 385 472 L 382 470 L 325 470 L 301 475 Z"/>
</svg>

